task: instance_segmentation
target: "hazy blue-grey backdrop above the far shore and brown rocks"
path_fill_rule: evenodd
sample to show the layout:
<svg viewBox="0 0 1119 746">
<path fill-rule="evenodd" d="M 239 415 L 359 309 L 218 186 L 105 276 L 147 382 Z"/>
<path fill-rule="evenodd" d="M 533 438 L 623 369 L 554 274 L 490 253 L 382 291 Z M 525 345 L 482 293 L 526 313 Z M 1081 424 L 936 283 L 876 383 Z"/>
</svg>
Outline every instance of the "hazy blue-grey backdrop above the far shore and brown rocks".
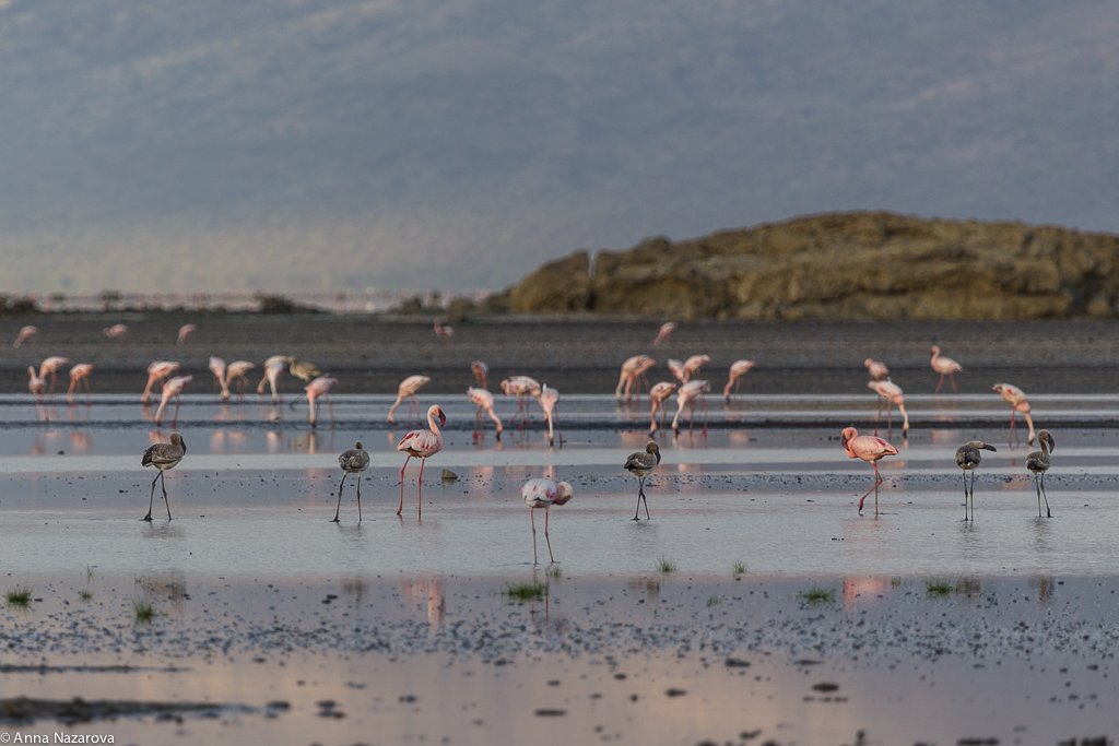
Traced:
<svg viewBox="0 0 1119 746">
<path fill-rule="evenodd" d="M 1119 0 L 0 0 L 0 292 L 500 289 L 850 209 L 1119 232 Z"/>
</svg>

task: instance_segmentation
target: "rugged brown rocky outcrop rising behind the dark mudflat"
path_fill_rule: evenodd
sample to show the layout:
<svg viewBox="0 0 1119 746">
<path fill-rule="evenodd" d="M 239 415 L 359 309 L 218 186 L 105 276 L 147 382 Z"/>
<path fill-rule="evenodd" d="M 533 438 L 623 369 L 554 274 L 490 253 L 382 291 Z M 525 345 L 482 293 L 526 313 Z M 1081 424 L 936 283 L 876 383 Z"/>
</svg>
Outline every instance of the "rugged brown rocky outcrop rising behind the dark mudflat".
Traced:
<svg viewBox="0 0 1119 746">
<path fill-rule="evenodd" d="M 1041 319 L 1119 312 L 1119 236 L 891 213 L 796 218 L 552 262 L 519 313 L 676 319 Z"/>
</svg>

